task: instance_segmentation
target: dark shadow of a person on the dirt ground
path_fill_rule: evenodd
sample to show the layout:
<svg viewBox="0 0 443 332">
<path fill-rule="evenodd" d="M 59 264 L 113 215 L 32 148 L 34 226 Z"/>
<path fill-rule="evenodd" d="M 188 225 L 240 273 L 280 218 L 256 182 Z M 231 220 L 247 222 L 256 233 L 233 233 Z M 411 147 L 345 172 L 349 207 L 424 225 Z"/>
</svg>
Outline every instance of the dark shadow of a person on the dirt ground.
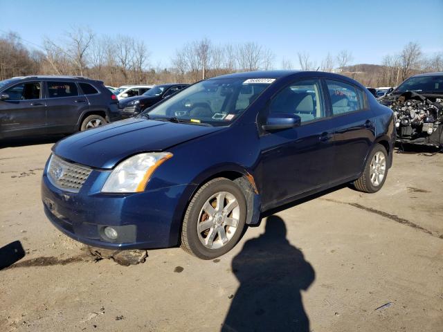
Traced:
<svg viewBox="0 0 443 332">
<path fill-rule="evenodd" d="M 221 331 L 309 331 L 301 291 L 315 272 L 286 238 L 279 216 L 266 219 L 264 234 L 244 243 L 232 270 L 240 282 Z"/>
</svg>

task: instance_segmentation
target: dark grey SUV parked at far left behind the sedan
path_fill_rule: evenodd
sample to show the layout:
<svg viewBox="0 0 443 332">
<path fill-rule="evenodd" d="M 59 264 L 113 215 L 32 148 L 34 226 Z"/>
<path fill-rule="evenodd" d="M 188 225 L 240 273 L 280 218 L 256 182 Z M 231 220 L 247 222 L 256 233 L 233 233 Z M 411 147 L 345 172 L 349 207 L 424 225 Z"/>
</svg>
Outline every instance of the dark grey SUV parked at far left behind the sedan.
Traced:
<svg viewBox="0 0 443 332">
<path fill-rule="evenodd" d="M 120 120 L 103 82 L 74 76 L 0 81 L 0 139 L 68 134 Z"/>
</svg>

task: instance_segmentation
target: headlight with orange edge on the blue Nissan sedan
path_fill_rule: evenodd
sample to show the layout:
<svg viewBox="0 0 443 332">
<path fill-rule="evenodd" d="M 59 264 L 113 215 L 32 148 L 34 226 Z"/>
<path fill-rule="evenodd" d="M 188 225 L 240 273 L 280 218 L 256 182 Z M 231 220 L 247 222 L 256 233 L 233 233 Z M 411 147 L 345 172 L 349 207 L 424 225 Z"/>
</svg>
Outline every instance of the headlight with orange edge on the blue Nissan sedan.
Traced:
<svg viewBox="0 0 443 332">
<path fill-rule="evenodd" d="M 169 152 L 152 152 L 123 160 L 107 178 L 102 192 L 143 192 L 155 169 L 171 157 Z"/>
</svg>

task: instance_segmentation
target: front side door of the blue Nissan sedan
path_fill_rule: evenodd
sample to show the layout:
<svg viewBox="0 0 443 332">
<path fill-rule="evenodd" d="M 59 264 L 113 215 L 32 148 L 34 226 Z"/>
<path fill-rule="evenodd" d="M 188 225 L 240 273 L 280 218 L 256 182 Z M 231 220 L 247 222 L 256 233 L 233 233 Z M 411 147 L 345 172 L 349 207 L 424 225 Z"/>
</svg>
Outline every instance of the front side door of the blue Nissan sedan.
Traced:
<svg viewBox="0 0 443 332">
<path fill-rule="evenodd" d="M 299 127 L 262 133 L 260 137 L 265 209 L 327 186 L 332 181 L 334 159 L 334 126 L 328 118 L 320 80 L 287 85 L 272 98 L 266 112 L 293 113 L 302 122 Z"/>
</svg>

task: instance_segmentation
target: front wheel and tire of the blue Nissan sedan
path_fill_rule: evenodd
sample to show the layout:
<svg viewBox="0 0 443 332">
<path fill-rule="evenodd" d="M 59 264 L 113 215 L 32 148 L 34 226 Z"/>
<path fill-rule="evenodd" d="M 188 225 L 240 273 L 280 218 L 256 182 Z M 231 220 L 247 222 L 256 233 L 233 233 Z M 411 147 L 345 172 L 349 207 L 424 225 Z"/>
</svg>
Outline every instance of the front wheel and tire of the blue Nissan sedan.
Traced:
<svg viewBox="0 0 443 332">
<path fill-rule="evenodd" d="M 223 202 L 219 204 L 219 201 Z M 242 189 L 227 178 L 208 181 L 195 193 L 186 209 L 181 248 L 200 259 L 224 255 L 242 237 L 245 220 L 246 199 Z"/>
</svg>

